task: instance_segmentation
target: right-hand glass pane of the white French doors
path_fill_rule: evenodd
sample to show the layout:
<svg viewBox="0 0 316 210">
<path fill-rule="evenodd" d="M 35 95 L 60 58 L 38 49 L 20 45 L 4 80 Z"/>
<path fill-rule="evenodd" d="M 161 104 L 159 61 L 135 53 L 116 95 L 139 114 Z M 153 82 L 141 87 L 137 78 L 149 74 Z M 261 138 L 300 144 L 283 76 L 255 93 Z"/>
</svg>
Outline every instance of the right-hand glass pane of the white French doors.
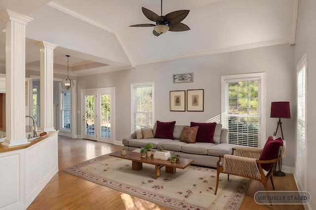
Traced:
<svg viewBox="0 0 316 210">
<path fill-rule="evenodd" d="M 111 97 L 101 95 L 101 137 L 111 138 Z"/>
</svg>

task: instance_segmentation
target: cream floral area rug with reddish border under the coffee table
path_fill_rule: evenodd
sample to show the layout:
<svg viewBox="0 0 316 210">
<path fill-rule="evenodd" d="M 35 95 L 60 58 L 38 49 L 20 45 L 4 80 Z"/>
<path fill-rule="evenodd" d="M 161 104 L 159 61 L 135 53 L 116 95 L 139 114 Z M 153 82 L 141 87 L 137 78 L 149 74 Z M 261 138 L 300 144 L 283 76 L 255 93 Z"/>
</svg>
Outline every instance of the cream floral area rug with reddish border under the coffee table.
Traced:
<svg viewBox="0 0 316 210">
<path fill-rule="evenodd" d="M 216 170 L 197 166 L 177 169 L 155 179 L 155 166 L 143 164 L 132 170 L 132 162 L 103 155 L 62 170 L 120 192 L 175 210 L 237 210 L 249 185 L 249 179 L 220 174 L 217 195 Z"/>
</svg>

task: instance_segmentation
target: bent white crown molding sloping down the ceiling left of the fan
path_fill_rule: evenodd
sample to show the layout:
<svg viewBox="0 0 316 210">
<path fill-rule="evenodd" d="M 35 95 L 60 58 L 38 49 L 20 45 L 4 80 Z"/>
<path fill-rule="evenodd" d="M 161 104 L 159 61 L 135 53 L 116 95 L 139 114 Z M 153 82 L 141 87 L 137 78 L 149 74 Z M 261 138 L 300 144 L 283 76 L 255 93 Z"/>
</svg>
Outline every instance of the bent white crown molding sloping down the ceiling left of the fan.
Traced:
<svg viewBox="0 0 316 210">
<path fill-rule="evenodd" d="M 129 63 L 131 64 L 131 66 L 135 66 L 133 64 L 132 59 L 130 58 L 129 54 L 127 53 L 126 48 L 124 47 L 123 42 L 121 41 L 120 37 L 118 36 L 118 34 L 115 31 L 113 31 L 112 29 L 110 29 L 110 28 L 108 28 L 108 27 L 106 27 L 106 26 L 104 26 L 104 25 L 92 20 L 91 18 L 85 17 L 85 16 L 79 14 L 78 12 L 75 12 L 74 10 L 71 10 L 71 9 L 69 9 L 69 8 L 67 8 L 67 7 L 65 7 L 65 6 L 59 4 L 59 3 L 55 2 L 55 1 L 50 1 L 50 2 L 47 3 L 47 5 L 55 8 L 55 9 L 58 9 L 59 11 L 62 11 L 64 13 L 66 13 L 66 14 L 69 14 L 69 15 L 75 17 L 75 18 L 78 18 L 79 20 L 82 20 L 82 21 L 84 21 L 86 23 L 89 23 L 89 24 L 91 24 L 91 25 L 93 25 L 95 27 L 98 27 L 98 28 L 100 28 L 100 29 L 102 29 L 104 31 L 107 31 L 107 32 L 115 35 L 115 37 L 118 40 L 118 43 L 119 43 L 120 47 L 122 48 L 123 52 L 125 53 L 128 61 L 129 61 Z"/>
</svg>

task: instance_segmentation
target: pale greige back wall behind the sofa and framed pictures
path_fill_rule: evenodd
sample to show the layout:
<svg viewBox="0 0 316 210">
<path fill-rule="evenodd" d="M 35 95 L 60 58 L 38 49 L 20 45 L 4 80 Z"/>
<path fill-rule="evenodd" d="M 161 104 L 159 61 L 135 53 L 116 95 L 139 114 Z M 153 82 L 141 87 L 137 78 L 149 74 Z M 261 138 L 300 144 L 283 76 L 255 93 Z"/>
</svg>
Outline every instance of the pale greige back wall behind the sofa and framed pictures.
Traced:
<svg viewBox="0 0 316 210">
<path fill-rule="evenodd" d="M 237 73 L 266 72 L 267 137 L 273 135 L 278 119 L 270 118 L 271 102 L 289 101 L 292 116 L 295 110 L 294 47 L 288 44 L 242 50 L 237 52 L 195 57 L 163 63 L 137 66 L 134 70 L 109 72 L 78 77 L 78 109 L 83 88 L 116 88 L 116 140 L 131 133 L 130 84 L 155 82 L 155 120 L 176 121 L 190 125 L 191 121 L 205 122 L 221 114 L 221 76 Z M 194 82 L 172 82 L 172 74 L 194 72 Z M 169 110 L 169 91 L 204 89 L 203 112 L 172 112 Z M 81 114 L 80 114 L 81 115 Z M 78 116 L 80 116 L 78 115 Z M 78 117 L 78 134 L 81 118 Z M 283 166 L 294 166 L 295 119 L 282 119 L 284 139 L 287 142 Z M 280 132 L 280 131 L 279 131 Z"/>
</svg>

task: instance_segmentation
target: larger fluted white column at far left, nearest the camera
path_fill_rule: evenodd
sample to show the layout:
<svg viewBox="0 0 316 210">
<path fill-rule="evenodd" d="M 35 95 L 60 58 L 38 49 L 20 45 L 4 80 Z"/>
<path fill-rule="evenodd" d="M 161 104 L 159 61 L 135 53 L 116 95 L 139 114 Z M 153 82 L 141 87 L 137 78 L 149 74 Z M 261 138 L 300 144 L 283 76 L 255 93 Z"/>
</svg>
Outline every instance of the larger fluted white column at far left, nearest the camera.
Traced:
<svg viewBox="0 0 316 210">
<path fill-rule="evenodd" d="M 5 22 L 5 129 L 4 146 L 30 143 L 25 137 L 25 26 L 33 20 L 11 10 L 0 13 Z"/>
</svg>

